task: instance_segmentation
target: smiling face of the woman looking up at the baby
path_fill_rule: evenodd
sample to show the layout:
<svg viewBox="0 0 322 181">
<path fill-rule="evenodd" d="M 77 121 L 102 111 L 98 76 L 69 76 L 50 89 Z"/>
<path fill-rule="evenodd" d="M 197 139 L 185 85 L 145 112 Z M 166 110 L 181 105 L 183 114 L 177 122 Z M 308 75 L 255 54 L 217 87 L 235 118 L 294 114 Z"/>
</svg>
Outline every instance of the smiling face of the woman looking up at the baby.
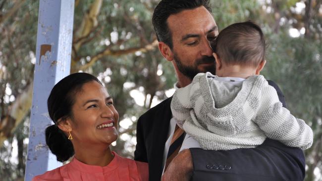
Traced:
<svg viewBox="0 0 322 181">
<path fill-rule="evenodd" d="M 111 144 L 117 139 L 118 113 L 102 85 L 96 81 L 86 83 L 74 99 L 70 118 L 73 142 Z"/>
</svg>

